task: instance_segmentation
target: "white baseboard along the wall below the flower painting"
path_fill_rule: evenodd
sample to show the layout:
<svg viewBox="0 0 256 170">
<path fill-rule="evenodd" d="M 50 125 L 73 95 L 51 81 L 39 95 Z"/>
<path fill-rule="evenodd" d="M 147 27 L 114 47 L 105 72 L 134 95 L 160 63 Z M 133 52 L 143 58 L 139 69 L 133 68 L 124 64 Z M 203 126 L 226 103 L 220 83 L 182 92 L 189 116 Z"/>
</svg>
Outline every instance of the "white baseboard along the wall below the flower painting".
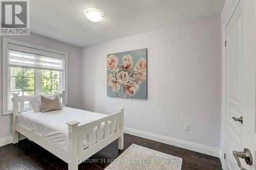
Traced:
<svg viewBox="0 0 256 170">
<path fill-rule="evenodd" d="M 186 141 L 186 140 L 180 140 L 180 139 L 176 139 L 176 138 L 172 138 L 172 137 L 162 136 L 162 135 L 158 135 L 155 133 L 140 131 L 137 129 L 126 128 L 126 127 L 124 127 L 124 133 L 143 137 L 146 139 L 155 140 L 155 141 L 170 144 L 170 145 L 174 145 L 175 147 L 180 147 L 180 148 L 184 148 L 187 150 L 200 152 L 200 153 L 215 156 L 218 158 L 220 156 L 220 149 L 214 148 L 214 147 L 209 147 L 207 145 L 203 145 L 203 144 L 199 144 L 199 143 L 194 143 L 194 142 L 190 142 L 190 141 Z"/>
</svg>

